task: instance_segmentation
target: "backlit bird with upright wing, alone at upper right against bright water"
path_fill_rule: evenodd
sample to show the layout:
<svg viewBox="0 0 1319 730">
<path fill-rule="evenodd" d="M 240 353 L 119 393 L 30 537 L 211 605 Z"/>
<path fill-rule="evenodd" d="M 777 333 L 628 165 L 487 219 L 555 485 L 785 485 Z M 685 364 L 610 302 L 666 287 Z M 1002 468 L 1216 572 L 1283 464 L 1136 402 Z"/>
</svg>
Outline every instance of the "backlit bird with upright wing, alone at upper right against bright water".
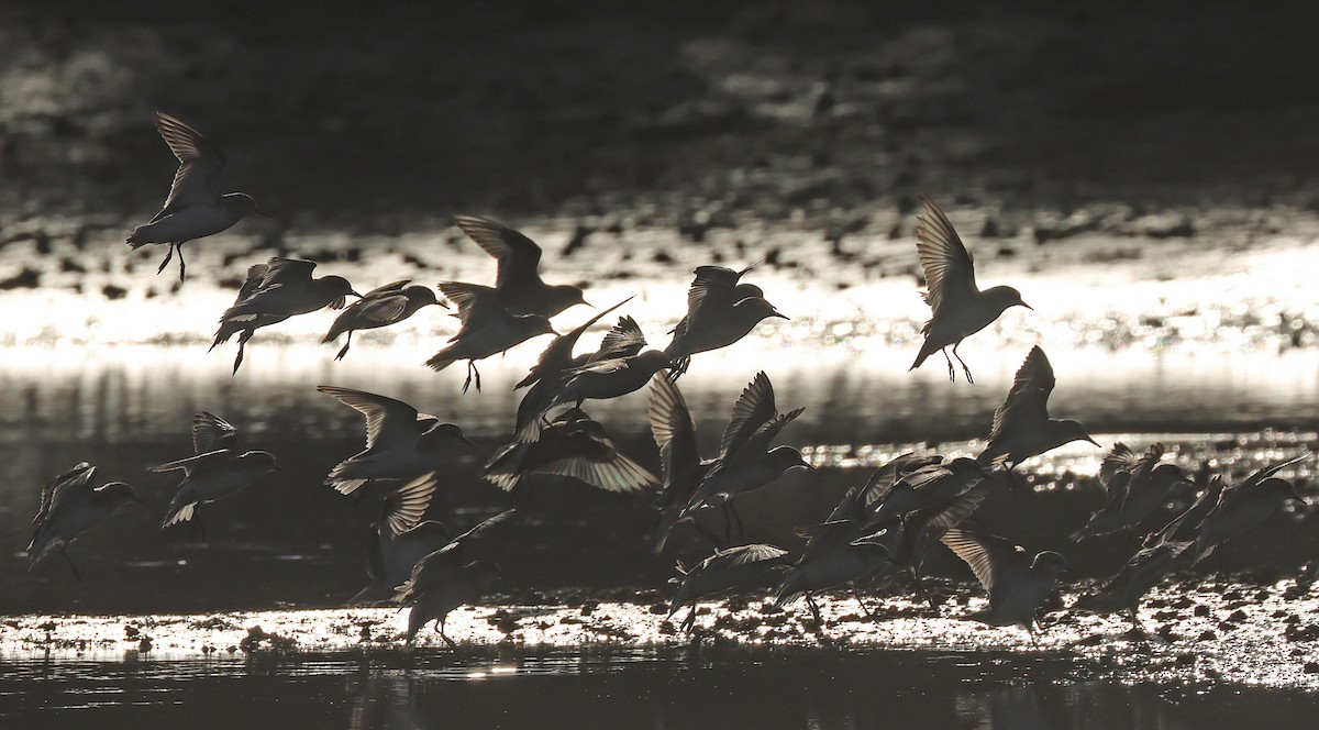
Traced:
<svg viewBox="0 0 1319 730">
<path fill-rule="evenodd" d="M 971 368 L 958 355 L 962 341 L 989 326 L 1008 308 L 1033 308 L 1021 301 L 1021 292 L 1012 286 L 993 286 L 981 292 L 976 286 L 971 253 L 958 238 L 948 216 L 930 198 L 921 195 L 921 202 L 925 205 L 925 214 L 917 216 L 915 251 L 925 271 L 925 301 L 930 305 L 933 315 L 921 327 L 925 341 L 915 362 L 907 370 L 921 367 L 926 358 L 942 351 L 943 358 L 948 360 L 948 379 L 956 380 L 956 371 L 947 350 L 951 345 L 952 356 L 962 363 L 967 383 L 975 383 Z"/>
</svg>

